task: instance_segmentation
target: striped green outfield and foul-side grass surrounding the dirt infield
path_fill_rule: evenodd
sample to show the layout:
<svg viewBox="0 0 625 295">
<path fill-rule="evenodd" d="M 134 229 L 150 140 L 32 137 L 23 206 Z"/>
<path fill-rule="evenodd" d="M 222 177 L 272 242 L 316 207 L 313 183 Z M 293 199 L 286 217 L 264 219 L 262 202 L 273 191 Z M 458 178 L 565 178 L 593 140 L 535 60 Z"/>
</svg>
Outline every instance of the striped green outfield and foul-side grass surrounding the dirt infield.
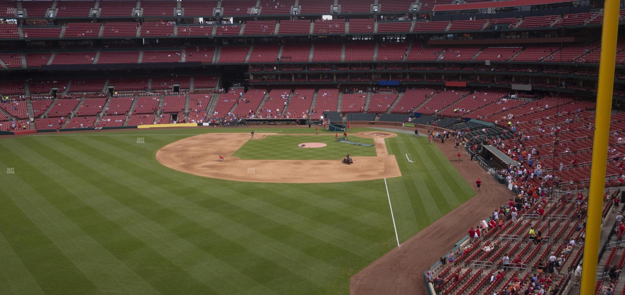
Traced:
<svg viewBox="0 0 625 295">
<path fill-rule="evenodd" d="M 155 158 L 192 135 L 250 130 L 0 137 L 0 294 L 349 294 L 397 246 L 384 180 L 247 183 Z M 387 179 L 400 242 L 475 195 L 426 141 L 386 139 L 403 175 Z"/>
</svg>

